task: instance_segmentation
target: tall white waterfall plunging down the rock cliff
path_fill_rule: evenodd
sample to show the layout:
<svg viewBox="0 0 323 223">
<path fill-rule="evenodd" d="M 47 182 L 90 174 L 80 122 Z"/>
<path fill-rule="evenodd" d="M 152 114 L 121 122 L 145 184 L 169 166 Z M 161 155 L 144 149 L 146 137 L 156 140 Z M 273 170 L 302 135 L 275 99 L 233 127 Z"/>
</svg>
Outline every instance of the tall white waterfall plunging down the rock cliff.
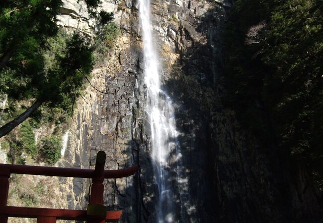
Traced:
<svg viewBox="0 0 323 223">
<path fill-rule="evenodd" d="M 147 108 L 151 125 L 151 158 L 154 178 L 158 185 L 157 223 L 173 223 L 176 218 L 176 195 L 172 185 L 171 172 L 176 171 L 177 161 L 170 159 L 170 152 L 177 151 L 177 131 L 174 109 L 170 97 L 161 90 L 162 76 L 159 58 L 154 50 L 150 0 L 139 0 L 140 25 L 142 27 L 144 51 L 144 80 L 147 84 Z M 171 162 L 170 162 L 171 161 Z"/>
</svg>

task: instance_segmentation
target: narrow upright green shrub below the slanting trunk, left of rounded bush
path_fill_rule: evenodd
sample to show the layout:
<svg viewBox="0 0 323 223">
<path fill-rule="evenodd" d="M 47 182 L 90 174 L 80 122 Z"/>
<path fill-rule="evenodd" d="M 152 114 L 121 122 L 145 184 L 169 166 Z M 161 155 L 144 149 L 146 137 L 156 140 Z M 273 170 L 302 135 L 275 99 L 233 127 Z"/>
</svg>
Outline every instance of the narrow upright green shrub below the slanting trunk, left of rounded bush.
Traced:
<svg viewBox="0 0 323 223">
<path fill-rule="evenodd" d="M 25 121 L 21 124 L 20 127 L 20 143 L 23 147 L 23 150 L 35 158 L 37 155 L 37 147 L 35 144 L 35 134 L 33 128 L 30 125 L 29 121 Z"/>
</svg>

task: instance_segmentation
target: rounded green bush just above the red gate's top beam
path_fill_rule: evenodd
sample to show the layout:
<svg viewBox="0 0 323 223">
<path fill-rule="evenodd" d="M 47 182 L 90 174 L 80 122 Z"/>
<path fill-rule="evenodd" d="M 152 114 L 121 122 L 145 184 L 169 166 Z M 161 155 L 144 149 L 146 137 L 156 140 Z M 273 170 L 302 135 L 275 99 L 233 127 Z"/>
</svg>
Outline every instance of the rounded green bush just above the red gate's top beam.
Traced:
<svg viewBox="0 0 323 223">
<path fill-rule="evenodd" d="M 54 165 L 61 158 L 62 140 L 57 136 L 44 137 L 39 144 L 39 153 L 42 160 L 48 165 Z"/>
</svg>

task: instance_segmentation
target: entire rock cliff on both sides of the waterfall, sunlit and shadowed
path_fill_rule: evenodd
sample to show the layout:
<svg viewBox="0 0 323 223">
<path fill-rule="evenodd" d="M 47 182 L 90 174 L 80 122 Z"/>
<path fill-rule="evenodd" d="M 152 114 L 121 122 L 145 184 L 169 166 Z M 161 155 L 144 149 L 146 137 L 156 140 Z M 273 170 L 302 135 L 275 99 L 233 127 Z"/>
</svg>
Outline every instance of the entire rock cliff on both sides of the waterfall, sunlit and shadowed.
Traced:
<svg viewBox="0 0 323 223">
<path fill-rule="evenodd" d="M 152 223 L 158 190 L 150 158 L 136 4 L 135 0 L 103 2 L 105 10 L 114 11 L 122 35 L 109 56 L 96 65 L 90 80 L 106 94 L 89 86 L 79 99 L 61 166 L 93 168 L 100 150 L 107 154 L 106 169 L 139 164 L 135 176 L 104 182 L 104 202 L 111 210 L 124 210 L 122 223 Z M 178 179 L 173 171 L 170 179 L 181 193 L 175 210 L 181 217 L 176 222 L 317 222 L 319 206 L 306 171 L 292 179 L 280 156 L 259 150 L 233 111 L 222 106 L 220 34 L 231 4 L 228 0 L 151 1 L 162 81 L 175 104 L 182 153 L 177 158 L 171 154 L 174 162 L 169 167 L 175 170 L 177 160 L 177 170 L 183 173 Z M 79 27 L 92 35 L 94 25 L 83 14 L 82 5 L 67 0 L 59 25 Z M 89 181 L 68 178 L 62 182 L 69 185 L 68 208 L 84 209 Z"/>
</svg>

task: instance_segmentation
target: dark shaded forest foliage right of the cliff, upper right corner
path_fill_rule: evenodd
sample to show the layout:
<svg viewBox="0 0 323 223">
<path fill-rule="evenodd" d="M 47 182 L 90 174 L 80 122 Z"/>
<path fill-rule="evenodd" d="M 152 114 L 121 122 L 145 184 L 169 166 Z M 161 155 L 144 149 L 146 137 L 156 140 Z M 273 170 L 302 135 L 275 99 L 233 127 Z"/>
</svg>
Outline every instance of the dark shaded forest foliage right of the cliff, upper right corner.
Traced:
<svg viewBox="0 0 323 223">
<path fill-rule="evenodd" d="M 323 187 L 323 1 L 238 0 L 226 28 L 227 105 L 264 148 Z"/>
</svg>

